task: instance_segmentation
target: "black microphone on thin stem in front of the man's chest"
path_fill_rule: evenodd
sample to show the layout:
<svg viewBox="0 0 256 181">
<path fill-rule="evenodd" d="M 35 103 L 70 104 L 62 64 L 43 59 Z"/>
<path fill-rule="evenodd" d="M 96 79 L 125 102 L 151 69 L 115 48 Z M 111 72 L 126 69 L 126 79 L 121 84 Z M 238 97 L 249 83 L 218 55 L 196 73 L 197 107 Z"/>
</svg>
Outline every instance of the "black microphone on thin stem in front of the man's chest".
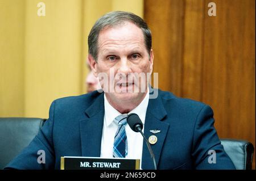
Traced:
<svg viewBox="0 0 256 181">
<path fill-rule="evenodd" d="M 143 129 L 143 124 L 141 119 L 139 119 L 139 116 L 136 113 L 130 113 L 130 115 L 127 116 L 127 123 L 129 124 L 130 128 L 134 132 L 140 132 L 141 135 L 143 136 L 144 140 L 147 143 L 147 148 L 150 151 L 151 158 L 153 159 L 154 162 L 154 167 L 156 170 L 156 162 L 155 162 L 155 155 L 151 149 L 150 143 L 148 142 L 147 138 L 144 136 L 142 129 Z"/>
</svg>

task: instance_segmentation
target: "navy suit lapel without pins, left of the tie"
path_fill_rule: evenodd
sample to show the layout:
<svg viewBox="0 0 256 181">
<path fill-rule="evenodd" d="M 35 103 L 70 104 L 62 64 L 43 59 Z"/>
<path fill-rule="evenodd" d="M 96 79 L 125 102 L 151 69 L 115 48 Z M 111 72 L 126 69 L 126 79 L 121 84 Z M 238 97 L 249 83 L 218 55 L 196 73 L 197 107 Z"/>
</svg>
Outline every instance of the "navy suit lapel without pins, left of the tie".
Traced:
<svg viewBox="0 0 256 181">
<path fill-rule="evenodd" d="M 104 120 L 104 94 L 100 94 L 80 121 L 82 157 L 100 157 Z"/>
</svg>

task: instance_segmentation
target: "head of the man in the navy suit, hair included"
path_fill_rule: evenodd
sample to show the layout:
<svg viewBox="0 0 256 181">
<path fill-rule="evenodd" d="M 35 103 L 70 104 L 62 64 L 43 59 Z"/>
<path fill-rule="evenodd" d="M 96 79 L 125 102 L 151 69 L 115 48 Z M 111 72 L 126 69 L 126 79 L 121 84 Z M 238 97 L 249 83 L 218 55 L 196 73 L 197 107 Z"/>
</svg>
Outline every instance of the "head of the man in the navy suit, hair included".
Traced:
<svg viewBox="0 0 256 181">
<path fill-rule="evenodd" d="M 130 12 L 110 12 L 94 24 L 88 43 L 94 75 L 108 77 L 101 87 L 109 103 L 122 113 L 137 107 L 146 95 L 154 58 L 147 24 Z"/>
</svg>

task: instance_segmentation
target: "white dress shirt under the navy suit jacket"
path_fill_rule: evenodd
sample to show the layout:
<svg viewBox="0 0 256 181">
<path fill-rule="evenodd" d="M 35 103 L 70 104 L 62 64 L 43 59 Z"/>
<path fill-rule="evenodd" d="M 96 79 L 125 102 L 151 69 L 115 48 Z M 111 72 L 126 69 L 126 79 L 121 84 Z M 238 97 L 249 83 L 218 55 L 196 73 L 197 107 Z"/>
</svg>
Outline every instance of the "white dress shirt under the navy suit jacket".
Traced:
<svg viewBox="0 0 256 181">
<path fill-rule="evenodd" d="M 146 117 L 146 111 L 149 100 L 149 90 L 147 90 L 147 94 L 142 100 L 142 102 L 134 108 L 134 110 L 129 113 L 137 113 L 137 115 L 141 118 L 143 123 L 142 132 L 144 132 L 144 123 Z M 104 114 L 104 124 L 102 130 L 102 138 L 101 138 L 101 157 L 102 158 L 113 158 L 113 145 L 114 145 L 114 137 L 115 132 L 117 132 L 118 125 L 114 122 L 115 117 L 121 115 L 120 112 L 113 108 L 108 100 L 106 99 L 106 95 L 104 94 L 104 106 L 105 106 L 105 114 Z M 143 137 L 141 133 L 134 132 L 131 130 L 128 124 L 125 125 L 125 131 L 127 135 L 127 145 L 128 145 L 128 154 L 126 158 L 130 159 L 141 159 L 142 161 L 142 146 L 143 146 Z"/>
</svg>

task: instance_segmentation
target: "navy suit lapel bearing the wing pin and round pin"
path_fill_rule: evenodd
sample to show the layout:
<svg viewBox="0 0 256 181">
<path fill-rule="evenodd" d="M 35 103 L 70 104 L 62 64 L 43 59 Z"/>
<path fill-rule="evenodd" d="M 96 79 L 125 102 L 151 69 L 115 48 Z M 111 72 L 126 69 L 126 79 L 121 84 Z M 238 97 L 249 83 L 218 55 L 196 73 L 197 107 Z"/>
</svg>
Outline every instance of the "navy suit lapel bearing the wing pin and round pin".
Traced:
<svg viewBox="0 0 256 181">
<path fill-rule="evenodd" d="M 146 138 L 149 138 L 151 135 L 155 135 L 158 138 L 156 144 L 151 145 L 153 153 L 155 154 L 156 165 L 158 165 L 164 140 L 169 128 L 169 124 L 162 121 L 166 115 L 166 110 L 164 109 L 162 100 L 159 96 L 156 99 L 149 100 L 144 125 L 144 134 Z M 150 130 L 155 129 L 160 132 L 155 134 L 150 132 Z M 154 169 L 154 164 L 145 141 L 143 142 L 142 151 L 142 169 Z"/>
</svg>

